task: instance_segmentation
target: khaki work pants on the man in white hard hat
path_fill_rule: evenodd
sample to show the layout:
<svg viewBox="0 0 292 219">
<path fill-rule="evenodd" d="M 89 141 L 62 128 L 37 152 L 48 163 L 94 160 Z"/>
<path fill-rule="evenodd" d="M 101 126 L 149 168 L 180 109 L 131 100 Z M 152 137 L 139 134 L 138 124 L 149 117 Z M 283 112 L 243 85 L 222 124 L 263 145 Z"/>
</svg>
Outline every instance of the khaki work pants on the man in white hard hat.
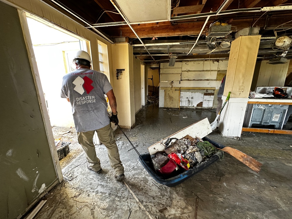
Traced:
<svg viewBox="0 0 292 219">
<path fill-rule="evenodd" d="M 107 154 L 109 157 L 109 162 L 114 169 L 114 174 L 116 176 L 124 173 L 124 167 L 120 160 L 119 150 L 114 139 L 114 132 L 112 131 L 111 125 L 107 125 L 103 128 L 88 131 L 88 132 L 77 132 L 78 142 L 82 146 L 86 160 L 89 163 L 89 166 L 94 171 L 100 170 L 100 159 L 96 156 L 95 146 L 93 144 L 93 135 L 96 131 L 98 138 L 102 144 L 107 148 Z"/>
</svg>

